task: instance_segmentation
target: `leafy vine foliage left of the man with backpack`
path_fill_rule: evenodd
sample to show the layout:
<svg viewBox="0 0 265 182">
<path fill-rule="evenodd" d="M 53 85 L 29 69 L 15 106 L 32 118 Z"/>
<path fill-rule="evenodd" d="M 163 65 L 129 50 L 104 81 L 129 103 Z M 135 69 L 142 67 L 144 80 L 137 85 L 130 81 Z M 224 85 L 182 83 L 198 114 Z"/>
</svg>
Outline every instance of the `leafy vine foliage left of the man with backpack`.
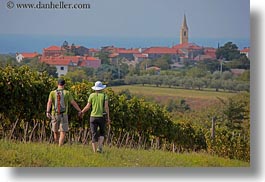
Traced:
<svg viewBox="0 0 265 182">
<path fill-rule="evenodd" d="M 54 83 L 46 72 L 32 72 L 27 66 L 0 68 L 0 113 L 12 119 L 42 119 Z"/>
</svg>

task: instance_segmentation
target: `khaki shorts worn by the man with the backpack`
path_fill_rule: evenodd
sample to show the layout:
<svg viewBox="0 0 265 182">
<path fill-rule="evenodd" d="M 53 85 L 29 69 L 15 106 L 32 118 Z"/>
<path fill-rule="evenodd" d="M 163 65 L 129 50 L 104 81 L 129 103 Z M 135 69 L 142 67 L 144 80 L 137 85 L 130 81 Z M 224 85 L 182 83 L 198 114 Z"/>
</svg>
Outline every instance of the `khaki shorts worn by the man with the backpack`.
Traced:
<svg viewBox="0 0 265 182">
<path fill-rule="evenodd" d="M 68 115 L 67 114 L 59 114 L 52 116 L 52 131 L 53 132 L 61 132 L 68 131 Z"/>
</svg>

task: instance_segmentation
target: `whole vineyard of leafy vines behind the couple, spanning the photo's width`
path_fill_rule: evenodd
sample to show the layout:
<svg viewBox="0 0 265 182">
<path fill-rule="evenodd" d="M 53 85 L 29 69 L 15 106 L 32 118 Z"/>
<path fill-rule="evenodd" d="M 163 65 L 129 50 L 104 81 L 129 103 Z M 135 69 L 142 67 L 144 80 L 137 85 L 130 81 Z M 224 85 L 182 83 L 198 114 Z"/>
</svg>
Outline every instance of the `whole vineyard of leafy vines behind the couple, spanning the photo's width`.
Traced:
<svg viewBox="0 0 265 182">
<path fill-rule="evenodd" d="M 158 80 L 158 77 L 156 78 Z M 45 111 L 49 92 L 56 86 L 56 80 L 46 72 L 31 71 L 27 66 L 0 68 L 0 119 L 3 121 L 0 124 L 0 137 L 25 142 L 51 142 L 52 135 Z M 66 89 L 71 91 L 81 108 L 87 104 L 92 86 L 92 82 L 73 83 L 66 78 Z M 175 93 L 174 89 L 170 91 Z M 112 120 L 106 136 L 106 145 L 173 152 L 205 150 L 223 157 L 247 161 L 250 158 L 248 93 L 237 94 L 228 100 L 223 99 L 222 107 L 215 110 L 207 108 L 203 113 L 186 112 L 189 107 L 182 99 L 179 104 L 172 104 L 173 109 L 182 113 L 178 120 L 173 121 L 164 107 L 146 101 L 143 95 L 138 98 L 128 91 L 115 94 L 112 89 L 106 89 L 104 92 L 109 96 Z M 185 90 L 182 94 L 186 92 Z M 148 93 L 155 94 L 155 90 L 152 89 Z M 188 95 L 192 96 L 190 93 Z M 216 95 L 218 94 L 215 93 Z M 89 112 L 83 120 L 77 117 L 73 107 L 70 107 L 69 112 L 70 131 L 66 141 L 87 143 L 90 139 Z M 209 138 L 209 115 L 216 116 L 220 121 L 216 130 L 216 141 L 213 143 Z M 224 132 L 226 134 L 222 135 Z M 235 138 L 232 141 L 231 136 Z M 222 140 L 227 142 L 218 143 Z"/>
</svg>

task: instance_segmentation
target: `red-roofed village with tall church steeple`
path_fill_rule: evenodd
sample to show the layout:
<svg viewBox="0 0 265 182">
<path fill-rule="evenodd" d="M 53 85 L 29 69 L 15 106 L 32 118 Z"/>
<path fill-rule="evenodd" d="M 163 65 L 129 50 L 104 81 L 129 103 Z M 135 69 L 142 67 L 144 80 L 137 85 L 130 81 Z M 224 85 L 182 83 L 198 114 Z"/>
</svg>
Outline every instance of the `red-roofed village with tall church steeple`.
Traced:
<svg viewBox="0 0 265 182">
<path fill-rule="evenodd" d="M 126 49 L 115 46 L 105 46 L 100 49 L 86 48 L 82 45 L 68 44 L 64 41 L 61 46 L 51 45 L 43 48 L 42 53 L 17 53 L 16 60 L 21 62 L 24 59 L 38 58 L 40 63 L 46 63 L 56 67 L 57 76 L 64 76 L 68 73 L 69 68 L 99 68 L 103 63 L 102 55 L 108 59 L 109 64 L 119 65 L 127 64 L 128 66 L 136 66 L 145 60 L 157 60 L 167 58 L 169 69 L 177 69 L 185 66 L 186 62 L 198 62 L 205 60 L 221 60 L 216 56 L 216 48 L 203 47 L 196 43 L 189 42 L 188 26 L 186 16 L 184 15 L 183 23 L 180 29 L 180 43 L 172 47 L 147 47 L 147 48 L 131 48 Z M 249 58 L 250 48 L 239 50 L 241 54 L 245 54 Z M 154 70 L 159 73 L 161 67 L 157 65 L 146 65 L 146 70 Z M 242 70 L 231 70 L 236 74 Z"/>
</svg>

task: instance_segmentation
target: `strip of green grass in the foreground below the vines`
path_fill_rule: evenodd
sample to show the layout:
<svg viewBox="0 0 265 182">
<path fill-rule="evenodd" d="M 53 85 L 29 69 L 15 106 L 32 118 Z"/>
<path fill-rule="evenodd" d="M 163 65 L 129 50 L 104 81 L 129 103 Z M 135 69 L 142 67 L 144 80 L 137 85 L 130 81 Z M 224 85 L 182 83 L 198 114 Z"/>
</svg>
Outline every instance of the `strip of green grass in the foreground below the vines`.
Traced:
<svg viewBox="0 0 265 182">
<path fill-rule="evenodd" d="M 161 150 L 104 147 L 94 154 L 90 145 L 18 143 L 0 140 L 2 167 L 250 167 L 250 163 L 204 153 L 176 154 Z"/>
</svg>

